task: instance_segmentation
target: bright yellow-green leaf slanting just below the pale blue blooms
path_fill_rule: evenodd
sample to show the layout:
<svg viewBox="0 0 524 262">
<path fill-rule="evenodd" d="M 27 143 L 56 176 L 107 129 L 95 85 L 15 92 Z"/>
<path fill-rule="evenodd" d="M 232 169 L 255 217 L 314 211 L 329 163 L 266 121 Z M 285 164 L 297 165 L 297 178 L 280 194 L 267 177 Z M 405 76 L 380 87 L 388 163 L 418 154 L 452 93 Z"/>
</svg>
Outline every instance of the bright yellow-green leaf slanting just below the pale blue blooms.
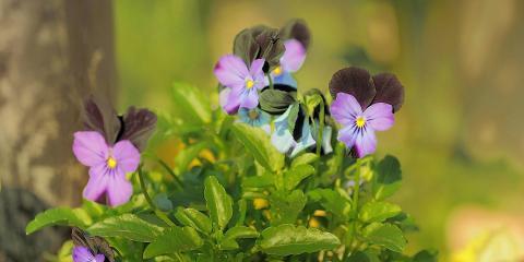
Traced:
<svg viewBox="0 0 524 262">
<path fill-rule="evenodd" d="M 277 171 L 284 166 L 284 155 L 271 144 L 270 138 L 262 129 L 235 123 L 233 132 L 254 159 L 267 170 Z"/>
</svg>

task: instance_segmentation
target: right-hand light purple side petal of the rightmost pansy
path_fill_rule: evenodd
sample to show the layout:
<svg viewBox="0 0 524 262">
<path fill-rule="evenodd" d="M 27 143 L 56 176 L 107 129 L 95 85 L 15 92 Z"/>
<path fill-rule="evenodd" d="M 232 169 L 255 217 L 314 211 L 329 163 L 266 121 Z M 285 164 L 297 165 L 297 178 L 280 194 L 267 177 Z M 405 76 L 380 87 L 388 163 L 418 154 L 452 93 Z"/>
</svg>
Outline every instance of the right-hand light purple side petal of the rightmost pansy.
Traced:
<svg viewBox="0 0 524 262">
<path fill-rule="evenodd" d="M 373 130 L 384 131 L 390 129 L 395 122 L 393 107 L 385 103 L 376 103 L 369 106 L 365 111 L 366 123 Z"/>
</svg>

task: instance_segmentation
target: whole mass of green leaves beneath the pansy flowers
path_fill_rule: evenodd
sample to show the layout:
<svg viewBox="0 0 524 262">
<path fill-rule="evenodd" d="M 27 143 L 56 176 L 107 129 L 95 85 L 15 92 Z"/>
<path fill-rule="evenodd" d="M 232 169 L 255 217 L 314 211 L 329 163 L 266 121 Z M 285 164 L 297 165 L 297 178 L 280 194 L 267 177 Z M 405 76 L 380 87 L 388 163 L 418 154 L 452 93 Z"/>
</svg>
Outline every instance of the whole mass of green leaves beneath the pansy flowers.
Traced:
<svg viewBox="0 0 524 262">
<path fill-rule="evenodd" d="M 170 156 L 175 167 L 147 152 L 154 157 L 143 159 L 142 175 L 151 181 L 131 179 L 129 203 L 52 209 L 26 233 L 76 226 L 104 237 L 119 261 L 437 261 L 433 251 L 403 253 L 416 225 L 385 201 L 401 186 L 395 157 L 353 159 L 336 144 L 331 154 L 291 158 L 261 129 L 212 110 L 189 85 L 176 84 L 174 93 L 187 115 L 165 116 L 155 143 L 172 135 L 184 143 Z M 305 99 L 308 115 L 323 103 L 319 93 Z"/>
</svg>

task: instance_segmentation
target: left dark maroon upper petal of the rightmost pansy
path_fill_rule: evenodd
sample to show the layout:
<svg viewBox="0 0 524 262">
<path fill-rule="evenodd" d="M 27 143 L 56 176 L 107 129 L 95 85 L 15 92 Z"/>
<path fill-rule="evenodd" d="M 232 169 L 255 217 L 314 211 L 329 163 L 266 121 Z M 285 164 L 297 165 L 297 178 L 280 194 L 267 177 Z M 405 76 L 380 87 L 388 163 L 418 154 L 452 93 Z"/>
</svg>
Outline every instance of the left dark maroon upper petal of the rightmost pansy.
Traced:
<svg viewBox="0 0 524 262">
<path fill-rule="evenodd" d="M 369 72 L 355 67 L 341 69 L 333 74 L 330 82 L 330 93 L 333 99 L 341 92 L 353 95 L 362 110 L 371 104 L 377 93 Z"/>
</svg>

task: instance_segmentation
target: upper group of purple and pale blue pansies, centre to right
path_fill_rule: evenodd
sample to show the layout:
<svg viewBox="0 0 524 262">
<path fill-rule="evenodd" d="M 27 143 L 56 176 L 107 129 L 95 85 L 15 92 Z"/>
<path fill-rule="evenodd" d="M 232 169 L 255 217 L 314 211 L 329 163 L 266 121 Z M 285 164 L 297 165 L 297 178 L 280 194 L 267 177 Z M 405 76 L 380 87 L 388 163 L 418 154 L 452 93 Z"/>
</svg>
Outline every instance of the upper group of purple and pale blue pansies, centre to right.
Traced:
<svg viewBox="0 0 524 262">
<path fill-rule="evenodd" d="M 255 26 L 240 32 L 234 53 L 223 56 L 214 69 L 222 86 L 222 108 L 262 128 L 271 134 L 273 145 L 291 157 L 318 146 L 322 153 L 331 153 L 331 118 L 342 126 L 337 140 L 357 157 L 372 154 L 374 131 L 391 128 L 393 114 L 402 106 L 402 84 L 393 74 L 371 76 L 352 67 L 333 75 L 331 107 L 318 90 L 297 97 L 293 73 L 301 68 L 309 43 L 302 21 L 291 21 L 279 31 Z"/>
</svg>

